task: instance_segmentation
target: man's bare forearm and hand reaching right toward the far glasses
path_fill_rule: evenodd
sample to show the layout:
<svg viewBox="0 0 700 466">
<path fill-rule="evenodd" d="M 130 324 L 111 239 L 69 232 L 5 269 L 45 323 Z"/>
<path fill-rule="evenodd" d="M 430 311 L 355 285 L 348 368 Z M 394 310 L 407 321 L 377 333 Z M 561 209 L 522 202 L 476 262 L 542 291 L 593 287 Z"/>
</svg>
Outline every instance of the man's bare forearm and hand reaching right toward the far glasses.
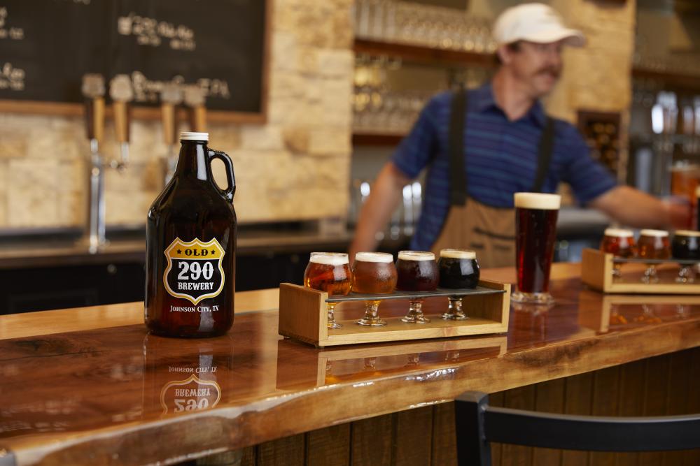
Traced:
<svg viewBox="0 0 700 466">
<path fill-rule="evenodd" d="M 638 189 L 618 186 L 590 203 L 619 223 L 634 228 L 687 228 L 689 205 L 659 201 Z"/>
</svg>

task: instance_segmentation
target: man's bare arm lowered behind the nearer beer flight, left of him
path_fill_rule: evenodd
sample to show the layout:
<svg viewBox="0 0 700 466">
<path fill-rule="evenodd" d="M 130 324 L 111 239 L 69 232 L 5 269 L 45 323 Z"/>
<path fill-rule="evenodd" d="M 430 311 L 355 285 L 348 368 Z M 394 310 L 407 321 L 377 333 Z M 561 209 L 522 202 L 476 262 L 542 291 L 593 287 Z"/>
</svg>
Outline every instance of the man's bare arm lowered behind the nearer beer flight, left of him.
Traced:
<svg viewBox="0 0 700 466">
<path fill-rule="evenodd" d="M 372 184 L 370 196 L 360 210 L 355 238 L 349 250 L 351 263 L 357 252 L 374 251 L 377 248 L 377 232 L 386 226 L 398 206 L 403 187 L 409 182 L 411 179 L 391 161 L 381 169 L 377 180 Z"/>
</svg>

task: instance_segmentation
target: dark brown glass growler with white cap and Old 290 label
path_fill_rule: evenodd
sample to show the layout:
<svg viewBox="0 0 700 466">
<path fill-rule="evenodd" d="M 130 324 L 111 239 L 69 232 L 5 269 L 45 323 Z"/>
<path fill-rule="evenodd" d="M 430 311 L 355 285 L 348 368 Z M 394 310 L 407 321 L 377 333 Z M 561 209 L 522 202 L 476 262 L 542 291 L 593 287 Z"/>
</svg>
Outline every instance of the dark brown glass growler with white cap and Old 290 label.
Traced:
<svg viewBox="0 0 700 466">
<path fill-rule="evenodd" d="M 146 325 L 172 337 L 221 335 L 234 310 L 233 163 L 207 147 L 207 133 L 182 133 L 180 140 L 175 174 L 148 210 Z M 212 159 L 225 165 L 225 191 L 211 175 Z"/>
</svg>

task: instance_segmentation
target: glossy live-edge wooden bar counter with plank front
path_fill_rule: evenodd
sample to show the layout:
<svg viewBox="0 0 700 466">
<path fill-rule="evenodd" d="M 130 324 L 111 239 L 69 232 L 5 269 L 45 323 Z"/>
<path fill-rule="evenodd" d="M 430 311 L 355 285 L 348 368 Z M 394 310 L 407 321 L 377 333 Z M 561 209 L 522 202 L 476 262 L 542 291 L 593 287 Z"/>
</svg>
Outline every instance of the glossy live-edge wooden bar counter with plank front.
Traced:
<svg viewBox="0 0 700 466">
<path fill-rule="evenodd" d="M 552 275 L 556 305 L 512 306 L 507 334 L 332 349 L 277 335 L 277 290 L 238 293 L 231 332 L 209 340 L 147 335 L 142 303 L 0 316 L 0 465 L 233 449 L 246 465 L 454 464 L 448 402 L 466 390 L 552 412 L 700 412 L 700 296 L 603 296 L 575 264 Z M 494 453 L 494 464 L 700 464 L 689 452 Z"/>
</svg>

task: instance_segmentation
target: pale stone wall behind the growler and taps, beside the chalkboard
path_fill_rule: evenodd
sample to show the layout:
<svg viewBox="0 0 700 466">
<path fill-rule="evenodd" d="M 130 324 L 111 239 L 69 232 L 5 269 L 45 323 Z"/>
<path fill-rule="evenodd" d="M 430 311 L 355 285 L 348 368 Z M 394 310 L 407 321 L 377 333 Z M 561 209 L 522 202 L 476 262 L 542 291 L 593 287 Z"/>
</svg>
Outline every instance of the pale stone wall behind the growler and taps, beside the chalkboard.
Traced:
<svg viewBox="0 0 700 466">
<path fill-rule="evenodd" d="M 272 3 L 268 122 L 210 124 L 211 147 L 234 161 L 241 223 L 344 216 L 352 0 Z M 107 123 L 103 144 L 109 157 L 116 155 L 112 126 Z M 0 114 L 0 228 L 84 224 L 84 134 L 80 118 Z M 106 175 L 108 224 L 144 223 L 162 189 L 161 141 L 158 122 L 132 124 L 131 165 Z"/>
</svg>

